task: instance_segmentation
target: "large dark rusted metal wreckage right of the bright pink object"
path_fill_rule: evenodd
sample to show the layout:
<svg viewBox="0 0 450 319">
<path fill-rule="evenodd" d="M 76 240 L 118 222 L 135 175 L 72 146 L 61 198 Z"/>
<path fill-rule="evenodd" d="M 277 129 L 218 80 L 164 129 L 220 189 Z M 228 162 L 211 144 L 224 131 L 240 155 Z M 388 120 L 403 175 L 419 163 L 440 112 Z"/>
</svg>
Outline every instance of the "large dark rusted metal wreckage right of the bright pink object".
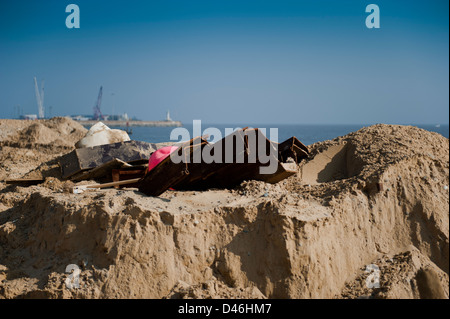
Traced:
<svg viewBox="0 0 450 319">
<path fill-rule="evenodd" d="M 253 133 L 256 134 L 251 135 Z M 234 150 L 231 162 L 225 154 L 227 145 L 232 145 Z M 270 155 L 270 160 L 277 163 L 276 172 L 273 174 L 261 174 L 260 168 L 267 164 L 260 158 L 259 147 L 265 147 L 266 153 L 263 154 Z M 275 151 L 276 147 L 278 152 Z M 187 149 L 190 150 L 187 155 L 188 163 L 174 163 L 169 156 L 145 175 L 140 182 L 139 190 L 150 196 L 159 196 L 168 188 L 176 190 L 232 188 L 244 180 L 252 179 L 277 183 L 297 172 L 296 167 L 289 167 L 283 162 L 291 157 L 298 163 L 309 153 L 308 148 L 295 137 L 276 145 L 260 130 L 247 128 L 238 130 L 214 144 L 209 144 L 198 137 L 183 144 L 176 151 L 177 155 L 181 156 L 183 150 Z M 205 153 L 218 154 L 217 158 L 221 160 L 207 162 L 203 156 Z M 195 162 L 196 156 L 201 159 L 199 162 Z M 238 162 L 237 159 L 241 161 Z"/>
</svg>

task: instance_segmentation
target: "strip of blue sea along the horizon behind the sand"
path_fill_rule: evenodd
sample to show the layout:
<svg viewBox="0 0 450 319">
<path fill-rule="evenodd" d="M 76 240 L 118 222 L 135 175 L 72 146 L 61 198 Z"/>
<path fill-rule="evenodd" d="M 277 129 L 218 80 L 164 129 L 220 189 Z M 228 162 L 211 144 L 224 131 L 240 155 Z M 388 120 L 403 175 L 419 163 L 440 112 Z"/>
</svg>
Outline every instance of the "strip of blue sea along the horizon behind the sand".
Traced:
<svg viewBox="0 0 450 319">
<path fill-rule="evenodd" d="M 247 125 L 248 126 L 248 125 Z M 265 128 L 266 136 L 270 140 L 274 139 L 274 136 L 270 134 L 270 128 L 278 129 L 278 142 L 283 142 L 284 140 L 295 136 L 297 137 L 303 144 L 311 145 L 316 142 L 332 140 L 339 136 L 347 135 L 351 132 L 355 132 L 363 127 L 367 127 L 369 125 L 309 125 L 309 124 L 272 124 L 272 125 L 255 125 L 249 127 L 255 128 Z M 412 126 L 416 126 L 431 132 L 436 132 L 443 135 L 446 138 L 449 138 L 449 126 L 448 125 L 417 125 L 414 124 Z M 184 124 L 182 126 L 185 131 L 185 134 L 188 133 L 190 138 L 194 137 L 193 124 Z M 242 128 L 244 126 L 236 125 L 236 124 L 201 124 L 201 132 L 204 134 L 204 130 L 207 128 L 217 128 L 222 137 L 225 137 L 228 130 Z M 125 127 L 111 127 L 111 128 L 119 128 L 126 130 Z M 182 138 L 175 136 L 174 139 L 171 139 L 171 133 L 174 130 L 174 127 L 132 127 L 132 133 L 130 138 L 132 140 L 144 141 L 149 143 L 162 143 L 162 142 L 180 142 Z M 226 130 L 228 129 L 228 130 Z M 196 134 L 197 135 L 197 134 Z"/>
</svg>

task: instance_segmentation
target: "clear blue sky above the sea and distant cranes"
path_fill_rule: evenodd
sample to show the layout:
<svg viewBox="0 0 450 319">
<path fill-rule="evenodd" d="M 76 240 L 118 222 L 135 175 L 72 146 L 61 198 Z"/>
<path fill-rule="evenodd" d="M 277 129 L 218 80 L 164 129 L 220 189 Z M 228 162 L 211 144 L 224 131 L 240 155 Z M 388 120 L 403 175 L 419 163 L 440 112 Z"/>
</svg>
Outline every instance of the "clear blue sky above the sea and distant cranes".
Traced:
<svg viewBox="0 0 450 319">
<path fill-rule="evenodd" d="M 80 29 L 65 25 L 68 4 Z M 365 8 L 380 8 L 368 29 Z M 0 1 L 0 118 L 102 112 L 248 124 L 449 117 L 447 0 Z"/>
</svg>

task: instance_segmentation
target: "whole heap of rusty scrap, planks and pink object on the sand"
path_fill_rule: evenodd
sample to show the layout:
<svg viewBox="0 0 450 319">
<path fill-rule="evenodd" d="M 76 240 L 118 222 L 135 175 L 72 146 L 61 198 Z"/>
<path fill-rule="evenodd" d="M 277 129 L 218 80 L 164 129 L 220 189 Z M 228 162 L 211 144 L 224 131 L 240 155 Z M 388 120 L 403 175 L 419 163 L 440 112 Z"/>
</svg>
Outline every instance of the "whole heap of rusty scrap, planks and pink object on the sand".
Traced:
<svg viewBox="0 0 450 319">
<path fill-rule="evenodd" d="M 296 174 L 297 164 L 309 153 L 308 148 L 295 137 L 278 144 L 269 141 L 258 129 L 240 129 L 213 144 L 202 137 L 176 145 L 140 141 L 104 144 L 108 140 L 104 138 L 106 134 L 113 133 L 118 135 L 99 122 L 81 140 L 85 144 L 86 139 L 91 138 L 94 146 L 77 148 L 60 157 L 63 179 L 106 181 L 105 185 L 77 187 L 74 192 L 135 186 L 146 195 L 159 196 L 169 188 L 233 188 L 245 180 L 277 183 Z M 92 138 L 97 141 L 94 143 Z M 166 150 L 170 152 L 160 156 L 159 152 Z M 154 160 L 155 155 L 159 156 L 157 161 Z M 178 160 L 174 160 L 174 155 Z M 291 163 L 287 163 L 288 160 Z M 268 165 L 273 165 L 272 171 L 265 173 L 264 168 Z M 129 185 L 126 183 L 128 179 Z"/>
</svg>

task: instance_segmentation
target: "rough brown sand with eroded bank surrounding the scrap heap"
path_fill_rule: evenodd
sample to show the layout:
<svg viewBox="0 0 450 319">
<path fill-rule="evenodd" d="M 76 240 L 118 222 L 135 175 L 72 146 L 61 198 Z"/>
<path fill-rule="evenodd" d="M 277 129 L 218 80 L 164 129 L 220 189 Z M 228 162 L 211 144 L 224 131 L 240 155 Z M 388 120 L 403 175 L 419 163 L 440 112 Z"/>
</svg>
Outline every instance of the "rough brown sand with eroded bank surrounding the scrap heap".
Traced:
<svg viewBox="0 0 450 319">
<path fill-rule="evenodd" d="M 0 181 L 44 180 L 0 182 L 0 298 L 449 297 L 439 134 L 375 125 L 310 145 L 275 185 L 148 197 L 68 192 L 57 158 L 85 133 L 64 118 L 0 120 Z M 79 288 L 65 284 L 71 264 Z"/>
</svg>

